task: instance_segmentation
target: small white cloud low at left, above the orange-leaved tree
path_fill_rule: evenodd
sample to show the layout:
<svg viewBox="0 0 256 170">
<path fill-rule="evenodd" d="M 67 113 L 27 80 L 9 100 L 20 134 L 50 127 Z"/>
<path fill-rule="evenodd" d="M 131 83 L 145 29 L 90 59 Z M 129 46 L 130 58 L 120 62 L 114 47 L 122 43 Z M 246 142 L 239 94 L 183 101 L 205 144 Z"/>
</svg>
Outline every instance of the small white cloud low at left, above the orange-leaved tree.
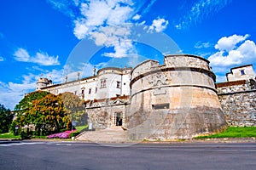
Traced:
<svg viewBox="0 0 256 170">
<path fill-rule="evenodd" d="M 22 62 L 36 63 L 38 65 L 60 65 L 59 56 L 49 56 L 44 52 L 37 52 L 35 56 L 31 56 L 24 48 L 18 48 L 14 56 L 17 61 Z"/>
</svg>

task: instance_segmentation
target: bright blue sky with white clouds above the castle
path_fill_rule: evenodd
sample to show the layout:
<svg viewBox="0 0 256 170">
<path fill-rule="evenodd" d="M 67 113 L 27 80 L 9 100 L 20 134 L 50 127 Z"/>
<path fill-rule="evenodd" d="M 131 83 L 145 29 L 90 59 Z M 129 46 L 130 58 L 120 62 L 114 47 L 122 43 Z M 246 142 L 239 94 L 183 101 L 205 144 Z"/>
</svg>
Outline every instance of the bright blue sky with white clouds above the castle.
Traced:
<svg viewBox="0 0 256 170">
<path fill-rule="evenodd" d="M 253 0 L 1 1 L 0 103 L 14 109 L 35 90 L 38 77 L 58 83 L 77 71 L 89 76 L 94 66 L 162 62 L 167 53 L 209 59 L 217 81 L 224 82 L 231 67 L 256 68 L 255 5 Z M 131 38 L 134 32 L 143 39 Z M 167 42 L 172 45 L 162 48 Z"/>
</svg>

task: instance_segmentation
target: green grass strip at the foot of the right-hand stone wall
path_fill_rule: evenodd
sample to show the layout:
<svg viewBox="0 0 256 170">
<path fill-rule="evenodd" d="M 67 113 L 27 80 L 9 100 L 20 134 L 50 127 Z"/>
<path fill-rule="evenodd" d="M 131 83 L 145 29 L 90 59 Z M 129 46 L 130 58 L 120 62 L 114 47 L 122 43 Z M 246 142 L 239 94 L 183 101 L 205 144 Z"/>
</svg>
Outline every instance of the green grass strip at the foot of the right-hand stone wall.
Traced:
<svg viewBox="0 0 256 170">
<path fill-rule="evenodd" d="M 223 133 L 216 133 L 209 136 L 198 136 L 195 139 L 251 137 L 256 137 L 256 127 L 228 127 Z"/>
</svg>

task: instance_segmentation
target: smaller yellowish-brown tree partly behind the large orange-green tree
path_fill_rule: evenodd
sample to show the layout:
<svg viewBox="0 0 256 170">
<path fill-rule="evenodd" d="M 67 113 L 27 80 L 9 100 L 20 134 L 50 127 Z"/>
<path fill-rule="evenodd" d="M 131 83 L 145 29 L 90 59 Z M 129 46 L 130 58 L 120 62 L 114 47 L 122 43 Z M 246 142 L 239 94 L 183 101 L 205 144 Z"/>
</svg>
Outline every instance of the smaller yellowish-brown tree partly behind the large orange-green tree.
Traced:
<svg viewBox="0 0 256 170">
<path fill-rule="evenodd" d="M 84 111 L 84 99 L 79 96 L 65 92 L 62 94 L 65 111 L 69 119 L 77 122 L 77 125 L 84 125 L 87 122 L 87 117 Z"/>
</svg>

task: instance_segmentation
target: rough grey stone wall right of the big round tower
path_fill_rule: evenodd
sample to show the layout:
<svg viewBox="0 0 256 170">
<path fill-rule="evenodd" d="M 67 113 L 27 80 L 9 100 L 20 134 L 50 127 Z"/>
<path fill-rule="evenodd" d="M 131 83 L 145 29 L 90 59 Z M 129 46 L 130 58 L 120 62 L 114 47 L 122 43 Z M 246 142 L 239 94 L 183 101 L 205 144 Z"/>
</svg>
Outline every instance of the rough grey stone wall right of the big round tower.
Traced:
<svg viewBox="0 0 256 170">
<path fill-rule="evenodd" d="M 246 80 L 218 83 L 217 89 L 229 126 L 256 126 L 256 89 Z"/>
</svg>

